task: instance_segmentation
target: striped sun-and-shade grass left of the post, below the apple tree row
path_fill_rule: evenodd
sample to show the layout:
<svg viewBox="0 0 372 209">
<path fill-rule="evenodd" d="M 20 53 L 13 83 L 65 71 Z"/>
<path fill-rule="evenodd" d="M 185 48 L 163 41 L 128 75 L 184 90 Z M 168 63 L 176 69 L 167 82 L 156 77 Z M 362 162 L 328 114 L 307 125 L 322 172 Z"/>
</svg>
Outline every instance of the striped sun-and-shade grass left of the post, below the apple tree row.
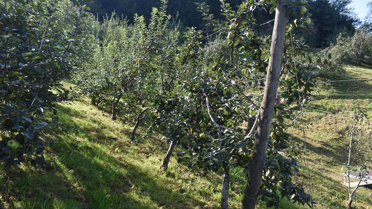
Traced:
<svg viewBox="0 0 372 209">
<path fill-rule="evenodd" d="M 15 208 L 218 208 L 222 178 L 193 173 L 173 158 L 168 172 L 159 166 L 167 150 L 161 136 L 139 144 L 131 127 L 112 121 L 88 100 L 58 106 L 49 136 L 48 166 L 0 169 L 0 194 Z M 62 126 L 63 124 L 63 126 Z M 230 206 L 239 208 L 245 178 L 231 171 Z M 263 207 L 263 206 L 261 206 Z M 283 208 L 297 208 L 283 200 Z"/>
</svg>

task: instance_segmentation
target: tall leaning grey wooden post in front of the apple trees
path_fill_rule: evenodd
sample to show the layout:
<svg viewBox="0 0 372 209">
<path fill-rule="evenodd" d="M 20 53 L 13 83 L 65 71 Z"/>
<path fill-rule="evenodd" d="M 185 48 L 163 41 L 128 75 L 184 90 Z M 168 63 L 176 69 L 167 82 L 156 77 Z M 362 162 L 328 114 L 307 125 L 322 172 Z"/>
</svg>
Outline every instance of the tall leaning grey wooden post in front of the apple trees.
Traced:
<svg viewBox="0 0 372 209">
<path fill-rule="evenodd" d="M 253 209 L 256 206 L 257 195 L 260 190 L 267 143 L 278 90 L 280 69 L 282 64 L 285 28 L 287 21 L 288 1 L 280 1 L 276 7 L 275 23 L 271 40 L 270 61 L 267 69 L 267 78 L 264 98 L 261 105 L 260 119 L 257 129 L 255 150 L 250 165 L 250 173 L 244 191 L 243 209 Z"/>
</svg>

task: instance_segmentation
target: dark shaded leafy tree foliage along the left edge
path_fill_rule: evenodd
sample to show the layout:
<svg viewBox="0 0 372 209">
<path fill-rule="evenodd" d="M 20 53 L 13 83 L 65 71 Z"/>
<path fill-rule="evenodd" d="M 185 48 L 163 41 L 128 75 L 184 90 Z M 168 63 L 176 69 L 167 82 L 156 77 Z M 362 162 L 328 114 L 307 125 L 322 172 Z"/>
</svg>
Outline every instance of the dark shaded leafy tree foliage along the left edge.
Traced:
<svg viewBox="0 0 372 209">
<path fill-rule="evenodd" d="M 74 53 L 80 52 L 79 45 L 89 43 L 81 26 L 88 14 L 82 2 L 76 3 L 0 4 L 0 157 L 8 165 L 44 162 L 44 132 L 49 124 L 43 113 L 68 99 L 70 90 L 60 81 L 68 76 L 70 64 L 78 62 Z M 14 143 L 16 147 L 9 146 Z"/>
</svg>

